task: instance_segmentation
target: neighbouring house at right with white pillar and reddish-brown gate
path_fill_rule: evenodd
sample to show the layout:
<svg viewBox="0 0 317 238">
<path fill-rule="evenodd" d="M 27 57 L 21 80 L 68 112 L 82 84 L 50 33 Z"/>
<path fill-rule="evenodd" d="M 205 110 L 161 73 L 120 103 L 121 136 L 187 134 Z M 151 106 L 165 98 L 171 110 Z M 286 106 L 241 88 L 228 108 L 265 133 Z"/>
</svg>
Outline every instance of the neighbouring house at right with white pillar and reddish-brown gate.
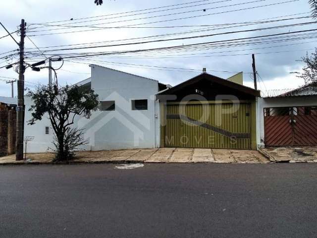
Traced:
<svg viewBox="0 0 317 238">
<path fill-rule="evenodd" d="M 259 99 L 258 118 L 259 147 L 317 146 L 317 88 Z"/>
</svg>

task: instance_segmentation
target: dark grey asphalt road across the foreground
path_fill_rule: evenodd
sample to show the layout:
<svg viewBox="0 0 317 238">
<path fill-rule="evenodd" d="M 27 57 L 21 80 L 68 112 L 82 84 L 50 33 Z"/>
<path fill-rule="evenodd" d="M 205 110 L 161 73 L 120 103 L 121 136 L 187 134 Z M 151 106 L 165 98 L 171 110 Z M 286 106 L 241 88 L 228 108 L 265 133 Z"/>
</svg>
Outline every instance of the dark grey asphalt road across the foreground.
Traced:
<svg viewBox="0 0 317 238">
<path fill-rule="evenodd" d="M 317 237 L 317 164 L 0 167 L 0 238 Z"/>
</svg>

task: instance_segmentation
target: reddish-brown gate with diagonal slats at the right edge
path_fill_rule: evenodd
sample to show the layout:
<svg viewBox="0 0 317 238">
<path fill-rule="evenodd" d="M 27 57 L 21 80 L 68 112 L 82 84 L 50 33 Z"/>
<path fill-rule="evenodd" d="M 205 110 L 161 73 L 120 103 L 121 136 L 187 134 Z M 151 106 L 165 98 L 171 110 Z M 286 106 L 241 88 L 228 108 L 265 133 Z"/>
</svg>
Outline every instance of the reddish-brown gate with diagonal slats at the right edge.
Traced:
<svg viewBox="0 0 317 238">
<path fill-rule="evenodd" d="M 317 107 L 264 108 L 267 146 L 317 146 Z"/>
</svg>

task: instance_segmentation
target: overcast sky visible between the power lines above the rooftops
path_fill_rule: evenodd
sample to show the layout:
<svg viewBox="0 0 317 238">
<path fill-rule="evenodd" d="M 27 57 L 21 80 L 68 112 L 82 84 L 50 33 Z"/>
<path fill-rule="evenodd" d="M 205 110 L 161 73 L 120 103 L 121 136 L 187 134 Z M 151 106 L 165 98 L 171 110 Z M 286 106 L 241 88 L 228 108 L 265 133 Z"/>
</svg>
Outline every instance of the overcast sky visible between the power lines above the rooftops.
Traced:
<svg viewBox="0 0 317 238">
<path fill-rule="evenodd" d="M 40 25 L 31 25 L 31 23 L 43 23 L 43 22 L 52 22 L 52 21 L 61 21 L 61 20 L 69 20 L 73 18 L 73 21 L 66 22 L 58 22 L 51 24 L 73 24 L 80 20 L 76 20 L 77 18 L 86 18 L 93 16 L 101 16 L 101 15 L 109 15 L 120 12 L 128 12 L 135 11 L 146 8 L 153 8 L 165 5 L 172 4 L 180 4 L 186 3 L 194 0 L 160 0 L 160 1 L 148 1 L 148 0 L 104 0 L 104 4 L 102 6 L 97 6 L 94 4 L 93 0 L 54 0 L 54 1 L 39 1 L 39 0 L 2 0 L 0 7 L 0 21 L 6 26 L 6 28 L 13 32 L 17 29 L 17 25 L 20 24 L 21 18 L 24 18 L 28 25 L 28 31 L 35 30 L 51 30 L 51 31 L 43 31 L 43 32 L 28 32 L 27 35 L 30 36 L 30 39 L 36 44 L 37 47 L 49 47 L 49 46 L 58 46 L 58 45 L 69 45 L 69 44 L 81 44 L 81 43 L 90 43 L 90 42 L 101 42 L 101 41 L 113 41 L 113 40 L 122 40 L 129 38 L 138 38 L 138 37 L 147 37 L 161 34 L 170 34 L 170 33 L 178 33 L 184 31 L 192 31 L 201 29 L 204 27 L 186 27 L 186 28 L 118 28 L 118 29 L 102 29 L 102 30 L 93 30 L 86 32 L 78 32 L 78 33 L 67 33 L 67 34 L 54 34 L 54 35 L 45 35 L 45 36 L 32 36 L 37 34 L 45 34 L 45 33 L 56 33 L 56 32 L 66 32 L 66 31 L 79 31 L 79 30 L 87 30 L 93 28 L 71 28 L 71 29 L 62 29 L 62 30 L 54 30 L 56 28 L 61 27 L 51 27 L 51 28 L 37 28 L 33 29 L 33 27 L 38 27 Z M 214 3 L 217 1 L 218 3 Z M 124 26 L 131 24 L 143 24 L 139 26 L 184 26 L 184 25 L 214 25 L 214 24 L 225 24 L 225 23 L 237 23 L 237 22 L 245 22 L 245 21 L 258 21 L 265 18 L 273 18 L 280 17 L 285 15 L 304 13 L 301 15 L 274 18 L 274 19 L 283 19 L 283 18 L 291 18 L 291 17 L 301 17 L 309 15 L 310 8 L 307 0 L 298 0 L 293 2 L 287 2 L 283 4 L 276 4 L 271 6 L 263 6 L 256 7 L 253 9 L 245 9 L 239 10 L 242 8 L 250 8 L 255 6 L 267 5 L 277 2 L 285 2 L 288 0 L 262 0 L 258 2 L 252 2 L 247 4 L 241 4 L 245 2 L 250 2 L 254 0 L 227 0 L 219 2 L 220 0 L 206 0 L 204 2 L 196 2 L 191 4 L 179 5 L 168 8 L 176 8 L 183 7 L 180 9 L 172 9 L 166 10 L 168 8 L 158 8 L 154 10 L 147 10 L 142 12 L 135 13 L 126 13 L 121 15 L 110 15 L 99 18 L 88 18 L 83 19 L 81 21 L 87 20 L 96 20 L 99 21 L 89 21 L 86 23 L 77 23 L 77 25 L 83 24 L 94 24 L 94 23 L 107 23 L 107 24 L 99 24 L 98 26 Z M 200 6 L 192 6 L 195 4 L 204 4 Z M 233 4 L 239 4 L 234 5 Z M 228 6 L 231 5 L 231 6 Z M 190 7 L 189 7 L 190 6 Z M 215 8 L 217 7 L 217 8 Z M 213 8 L 213 9 L 208 9 Z M 166 11 L 158 11 L 163 10 Z M 206 11 L 203 11 L 206 9 Z M 199 11 L 193 11 L 199 10 Z M 233 11 L 236 10 L 236 11 Z M 148 13 L 149 11 L 158 11 L 153 13 Z M 171 14 L 171 13 L 179 13 L 184 11 L 191 11 L 188 13 L 180 13 L 169 16 L 161 16 L 154 17 L 162 14 Z M 231 11 L 221 14 L 212 14 L 223 11 Z M 127 14 L 137 14 L 134 16 L 125 16 Z M 139 13 L 147 13 L 147 14 L 139 14 Z M 208 16 L 196 17 L 198 15 L 203 14 L 212 14 Z M 153 16 L 153 17 L 152 17 Z M 193 17 L 194 16 L 194 17 Z M 116 18 L 113 18 L 116 17 Z M 138 19 L 132 20 L 135 18 L 145 18 L 152 17 L 146 19 Z M 171 20 L 175 18 L 183 18 L 183 17 L 192 17 L 189 19 L 181 19 L 181 20 Z M 106 19 L 105 19 L 106 18 Z M 124 22 L 123 20 L 129 20 Z M 167 22 L 158 22 L 151 24 L 144 24 L 154 21 L 162 21 L 162 20 L 171 20 Z M 113 21 L 121 21 L 116 23 L 109 23 Z M 256 24 L 251 26 L 243 26 L 243 27 L 235 27 L 228 29 L 219 29 L 219 30 L 209 30 L 199 33 L 191 33 L 185 35 L 173 35 L 167 38 L 159 38 L 159 39 L 168 39 L 168 38 L 178 38 L 178 37 L 188 37 L 188 36 L 198 36 L 198 35 L 207 35 L 214 33 L 222 33 L 228 31 L 241 31 L 248 29 L 256 29 L 256 28 L 264 28 L 264 27 L 273 27 L 279 25 L 289 25 L 289 24 L 297 24 L 302 22 L 311 22 L 312 18 L 304 18 L 304 19 L 295 19 L 295 20 L 287 20 L 280 22 L 271 22 L 266 24 Z M 29 26 L 30 25 L 30 26 Z M 74 24 L 76 25 L 76 24 Z M 205 27 L 206 28 L 206 27 Z M 203 42 L 211 42 L 211 41 L 219 41 L 219 40 L 228 40 L 228 39 L 237 39 L 237 38 L 245 38 L 245 37 L 254 37 L 268 34 L 277 34 L 277 33 L 286 33 L 286 32 L 294 32 L 308 29 L 315 29 L 316 24 L 310 24 L 306 26 L 289 26 L 280 29 L 268 29 L 261 30 L 257 32 L 244 32 L 244 33 L 234 33 L 227 35 L 219 35 L 219 36 L 210 36 L 204 38 L 197 39 L 185 39 L 185 40 L 174 40 L 167 42 L 157 42 L 157 43 L 148 43 L 142 45 L 130 45 L 130 46 L 116 46 L 116 47 L 107 47 L 107 48 L 97 48 L 97 49 L 86 49 L 86 50 L 78 50 L 75 52 L 83 53 L 83 52 L 111 52 L 111 51 L 122 51 L 122 50 L 139 50 L 139 49 L 150 49 L 150 48 L 159 48 L 159 47 L 168 47 L 168 46 L 179 46 L 179 45 L 187 45 L 187 44 L 195 44 L 195 43 L 203 43 Z M 104 65 L 107 67 L 115 68 L 118 70 L 126 71 L 129 73 L 134 73 L 137 75 L 153 78 L 159 80 L 162 83 L 168 83 L 171 85 L 176 85 L 184 80 L 187 80 L 191 77 L 199 74 L 203 67 L 207 68 L 207 71 L 211 74 L 214 74 L 219 77 L 228 78 L 235 74 L 234 72 L 243 71 L 244 74 L 244 84 L 247 86 L 253 86 L 252 79 L 250 77 L 250 72 L 252 71 L 252 53 L 258 53 L 256 55 L 256 66 L 258 73 L 264 80 L 264 83 L 260 82 L 260 89 L 283 89 L 283 88 L 296 88 L 299 85 L 303 84 L 303 82 L 296 78 L 294 74 L 290 74 L 292 71 L 300 71 L 302 68 L 302 64 L 296 60 L 299 60 L 302 56 L 306 54 L 308 50 L 311 52 L 311 49 L 314 49 L 316 45 L 316 40 L 314 38 L 314 32 L 310 33 L 310 39 L 300 39 L 297 41 L 290 42 L 278 42 L 278 43 L 266 43 L 260 45 L 250 45 L 250 46 L 237 46 L 231 48 L 221 48 L 221 49 L 206 49 L 205 51 L 195 51 L 195 52 L 171 52 L 171 53 L 159 53 L 158 55 L 152 53 L 143 53 L 143 54 L 135 54 L 134 57 L 126 58 L 126 55 L 120 56 L 102 56 L 98 58 L 91 58 L 89 60 L 100 60 L 100 61 L 88 61 L 88 60 L 71 60 L 65 61 L 61 70 L 58 70 L 58 82 L 60 84 L 65 83 L 75 83 L 90 76 L 90 67 L 89 63 L 95 63 Z M 6 35 L 6 32 L 0 28 L 0 37 Z M 17 34 L 13 34 L 16 40 L 19 39 Z M 158 38 L 156 38 L 158 39 Z M 148 39 L 148 40 L 156 40 L 156 39 Z M 133 42 L 145 41 L 146 39 L 141 39 Z M 131 42 L 131 41 L 130 41 Z M 111 42 L 111 44 L 118 44 L 123 42 Z M 102 44 L 110 44 L 102 43 Z M 100 44 L 99 44 L 100 45 Z M 284 46 L 283 46 L 284 45 Z M 287 46 L 285 46 L 287 45 Z M 26 48 L 34 48 L 35 46 L 32 42 L 25 38 L 25 47 Z M 58 47 L 64 48 L 64 47 Z M 56 49 L 58 49 L 56 48 Z M 254 49 L 257 48 L 257 49 Z M 259 49 L 262 48 L 262 49 Z M 17 49 L 17 45 L 10 37 L 5 37 L 0 39 L 0 53 L 5 53 L 11 50 Z M 254 49 L 254 50 L 250 50 Z M 246 51 L 249 50 L 249 51 Z M 36 49 L 31 49 L 29 51 L 37 51 Z M 228 52 L 230 51 L 230 52 Z M 290 51 L 290 52 L 285 52 Z M 216 52 L 224 52 L 224 53 L 216 53 Z M 275 53 L 274 53 L 275 52 Z M 278 53 L 276 53 L 278 52 Z M 60 51 L 54 53 L 70 53 L 70 51 Z M 71 53 L 74 53 L 72 51 Z M 201 54 L 206 53 L 204 57 L 202 55 L 193 55 L 188 56 L 188 54 Z M 260 53 L 260 54 L 259 54 Z M 269 54 L 268 54 L 269 53 Z M 45 53 L 52 54 L 52 53 Z M 213 54 L 213 55 L 212 55 Z M 246 55 L 247 54 L 247 55 Z M 182 55 L 182 56 L 180 56 Z M 184 56 L 187 55 L 187 56 Z M 235 56 L 232 56 L 235 55 Z M 5 56 L 0 55 L 0 57 Z M 145 58 L 146 57 L 146 58 Z M 154 58 L 155 57 L 155 58 Z M 38 58 L 41 59 L 41 58 Z M 13 57 L 13 59 L 8 60 L 0 60 L 0 66 L 4 66 L 7 63 L 15 62 L 17 58 Z M 101 62 L 102 61 L 102 62 Z M 107 62 L 105 62 L 107 61 Z M 31 62 L 31 61 L 30 61 Z M 109 63 L 109 62 L 115 62 Z M 54 67 L 58 66 L 59 62 L 54 64 Z M 129 63 L 129 64 L 138 64 L 137 65 L 128 65 L 128 64 L 118 64 L 118 63 Z M 176 68 L 189 68 L 189 69 L 197 69 L 196 71 L 188 72 L 185 70 L 175 71 L 173 69 L 165 69 L 165 70 L 156 70 L 154 68 L 149 68 L 140 65 L 154 65 L 154 66 L 162 66 L 162 67 L 176 67 Z M 215 70 L 215 71 L 212 71 Z M 69 72 L 71 71 L 71 72 Z M 217 72 L 217 71 L 230 71 L 228 72 Z M 17 78 L 18 74 L 13 71 L 13 69 L 0 69 L 0 76 L 2 77 L 13 77 Z M 5 78 L 0 78 L 0 96 L 10 96 L 10 86 L 5 83 Z M 34 72 L 30 69 L 27 69 L 25 72 L 25 80 L 28 85 L 32 83 L 46 84 L 48 82 L 48 71 L 46 69 L 41 70 L 40 72 Z M 16 95 L 16 85 L 15 85 L 15 95 Z"/>
</svg>

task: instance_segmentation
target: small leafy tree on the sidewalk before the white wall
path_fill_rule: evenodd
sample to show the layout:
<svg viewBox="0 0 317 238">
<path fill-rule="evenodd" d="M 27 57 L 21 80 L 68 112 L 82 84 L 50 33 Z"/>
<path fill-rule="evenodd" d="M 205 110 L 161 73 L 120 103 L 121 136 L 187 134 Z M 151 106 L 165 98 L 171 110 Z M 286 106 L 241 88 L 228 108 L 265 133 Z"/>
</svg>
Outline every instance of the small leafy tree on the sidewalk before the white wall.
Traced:
<svg viewBox="0 0 317 238">
<path fill-rule="evenodd" d="M 98 108 L 98 95 L 92 89 L 83 89 L 77 85 L 66 85 L 57 90 L 49 86 L 40 86 L 35 91 L 29 91 L 28 97 L 32 99 L 29 109 L 32 118 L 29 124 L 35 124 L 46 114 L 49 116 L 53 131 L 55 145 L 55 160 L 69 160 L 73 151 L 85 144 L 82 139 L 82 130 L 70 128 L 76 116 L 90 118 L 91 112 Z"/>
</svg>

